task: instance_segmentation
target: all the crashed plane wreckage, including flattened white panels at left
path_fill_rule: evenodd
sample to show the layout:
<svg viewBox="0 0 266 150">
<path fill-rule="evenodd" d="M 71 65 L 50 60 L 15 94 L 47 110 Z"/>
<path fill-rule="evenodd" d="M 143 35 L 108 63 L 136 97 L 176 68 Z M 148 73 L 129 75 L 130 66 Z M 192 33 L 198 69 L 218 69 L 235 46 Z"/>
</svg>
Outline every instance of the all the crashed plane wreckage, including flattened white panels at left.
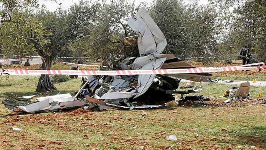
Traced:
<svg viewBox="0 0 266 150">
<path fill-rule="evenodd" d="M 136 14 L 137 20 L 129 18 L 128 25 L 138 33 L 124 39 L 125 45 L 138 45 L 140 57 L 126 58 L 118 64 L 101 67 L 104 70 L 155 70 L 195 68 L 176 58 L 173 54 L 162 54 L 167 45 L 166 38 L 148 13 L 141 8 Z M 165 108 L 178 105 L 180 99 L 174 94 L 200 92 L 203 88 L 196 86 L 192 90 L 176 91 L 180 80 L 187 79 L 203 82 L 210 78 L 209 73 L 190 73 L 170 75 L 89 75 L 83 79 L 80 90 L 74 97 L 70 94 L 48 97 L 13 97 L 8 95 L 4 105 L 24 112 L 55 111 L 66 108 L 83 107 L 85 109 L 147 109 Z M 11 99 L 11 100 L 10 100 Z M 203 100 L 202 96 L 198 98 Z M 182 99 L 181 99 L 182 100 Z M 183 99 L 182 101 L 186 101 Z M 206 99 L 205 99 L 206 100 Z"/>
</svg>

